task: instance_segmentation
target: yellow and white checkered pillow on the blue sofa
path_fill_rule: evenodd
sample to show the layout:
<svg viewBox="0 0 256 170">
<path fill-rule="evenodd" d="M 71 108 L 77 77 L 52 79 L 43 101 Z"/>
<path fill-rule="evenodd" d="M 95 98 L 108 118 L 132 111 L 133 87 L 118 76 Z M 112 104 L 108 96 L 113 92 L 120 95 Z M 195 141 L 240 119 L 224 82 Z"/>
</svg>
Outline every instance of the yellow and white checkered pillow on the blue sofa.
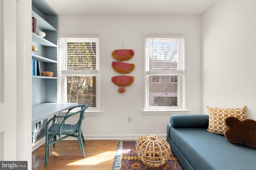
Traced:
<svg viewBox="0 0 256 170">
<path fill-rule="evenodd" d="M 246 119 L 246 106 L 242 108 L 206 107 L 208 108 L 209 114 L 209 125 L 207 131 L 211 133 L 224 135 L 225 131 L 228 129 L 224 125 L 227 117 L 236 117 L 241 121 Z"/>
</svg>

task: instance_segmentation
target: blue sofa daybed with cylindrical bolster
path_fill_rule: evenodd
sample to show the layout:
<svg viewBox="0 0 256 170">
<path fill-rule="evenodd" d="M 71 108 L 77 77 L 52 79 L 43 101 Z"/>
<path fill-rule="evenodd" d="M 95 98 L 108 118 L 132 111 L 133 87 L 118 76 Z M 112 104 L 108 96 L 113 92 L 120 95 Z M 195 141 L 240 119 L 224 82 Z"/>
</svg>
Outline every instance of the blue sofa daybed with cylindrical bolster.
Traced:
<svg viewBox="0 0 256 170">
<path fill-rule="evenodd" d="M 256 148 L 208 132 L 208 115 L 171 115 L 167 141 L 185 170 L 256 170 Z"/>
</svg>

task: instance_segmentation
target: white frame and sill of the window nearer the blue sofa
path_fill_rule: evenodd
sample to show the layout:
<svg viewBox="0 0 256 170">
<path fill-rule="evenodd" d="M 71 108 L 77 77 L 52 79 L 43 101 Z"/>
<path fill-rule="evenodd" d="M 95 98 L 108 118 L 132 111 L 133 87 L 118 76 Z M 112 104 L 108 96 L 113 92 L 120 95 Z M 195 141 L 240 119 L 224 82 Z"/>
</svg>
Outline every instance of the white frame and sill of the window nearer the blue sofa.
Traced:
<svg viewBox="0 0 256 170">
<path fill-rule="evenodd" d="M 164 71 L 149 71 L 147 70 L 147 38 L 183 38 L 183 61 L 182 61 L 182 70 L 164 70 Z M 188 113 L 187 110 L 185 110 L 185 64 L 184 61 L 186 59 L 186 43 L 185 43 L 185 35 L 172 35 L 172 34 L 151 34 L 151 33 L 144 33 L 144 109 L 142 113 L 144 115 L 171 115 L 174 112 L 175 113 Z M 178 106 L 175 107 L 160 107 L 160 106 L 150 106 L 149 102 L 149 76 L 152 75 L 159 75 L 159 76 L 178 76 L 177 82 L 171 82 L 173 84 L 177 84 L 177 93 L 178 93 Z"/>
</svg>

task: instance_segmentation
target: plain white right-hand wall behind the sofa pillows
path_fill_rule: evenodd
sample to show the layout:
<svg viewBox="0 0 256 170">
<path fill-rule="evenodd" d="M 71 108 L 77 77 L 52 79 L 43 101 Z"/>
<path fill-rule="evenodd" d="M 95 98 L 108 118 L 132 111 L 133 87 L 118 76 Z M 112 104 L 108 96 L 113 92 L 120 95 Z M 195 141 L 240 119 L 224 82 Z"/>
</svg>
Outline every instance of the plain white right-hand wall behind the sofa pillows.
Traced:
<svg viewBox="0 0 256 170">
<path fill-rule="evenodd" d="M 202 110 L 247 106 L 256 119 L 256 1 L 220 0 L 202 16 Z"/>
</svg>

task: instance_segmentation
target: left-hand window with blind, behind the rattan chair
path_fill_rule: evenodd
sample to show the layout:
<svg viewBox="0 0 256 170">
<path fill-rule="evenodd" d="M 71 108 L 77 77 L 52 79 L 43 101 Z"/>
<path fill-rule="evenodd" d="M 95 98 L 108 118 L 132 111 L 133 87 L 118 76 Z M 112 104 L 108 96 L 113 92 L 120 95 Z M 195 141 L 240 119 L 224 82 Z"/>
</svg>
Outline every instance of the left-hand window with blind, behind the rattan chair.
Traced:
<svg viewBox="0 0 256 170">
<path fill-rule="evenodd" d="M 59 63 L 64 102 L 98 109 L 99 39 L 61 37 Z"/>
</svg>

